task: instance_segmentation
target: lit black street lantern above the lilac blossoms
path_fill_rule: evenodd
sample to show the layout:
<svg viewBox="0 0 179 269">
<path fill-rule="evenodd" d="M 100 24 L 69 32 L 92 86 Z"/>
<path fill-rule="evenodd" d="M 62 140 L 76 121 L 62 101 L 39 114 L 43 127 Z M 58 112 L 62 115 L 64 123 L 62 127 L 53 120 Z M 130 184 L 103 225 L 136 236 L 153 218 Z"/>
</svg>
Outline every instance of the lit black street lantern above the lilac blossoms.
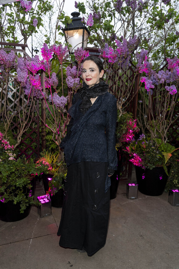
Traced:
<svg viewBox="0 0 179 269">
<path fill-rule="evenodd" d="M 70 53 L 74 53 L 74 50 L 78 47 L 82 47 L 83 49 L 87 47 L 90 31 L 81 22 L 79 12 L 72 12 L 71 15 L 73 16 L 71 18 L 72 22 L 70 24 L 67 23 L 67 28 L 63 28 L 62 30 L 65 33 L 65 41 L 72 46 L 69 48 Z"/>
</svg>

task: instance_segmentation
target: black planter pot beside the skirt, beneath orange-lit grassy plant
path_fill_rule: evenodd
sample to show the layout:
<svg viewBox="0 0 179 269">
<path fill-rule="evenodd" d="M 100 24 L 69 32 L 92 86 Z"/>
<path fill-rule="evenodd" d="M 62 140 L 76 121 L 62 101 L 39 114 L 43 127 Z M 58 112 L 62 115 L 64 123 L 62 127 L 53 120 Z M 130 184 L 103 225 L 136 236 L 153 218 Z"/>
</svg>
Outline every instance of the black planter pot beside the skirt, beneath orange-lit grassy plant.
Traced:
<svg viewBox="0 0 179 269">
<path fill-rule="evenodd" d="M 48 186 L 48 178 L 52 178 L 51 174 L 43 174 L 43 183 L 44 183 L 44 190 L 45 192 L 47 192 L 49 190 L 49 186 Z M 64 182 L 62 182 L 64 184 Z M 60 189 L 58 190 L 54 195 L 50 195 L 50 199 L 52 202 L 52 207 L 62 207 L 63 204 L 63 196 L 64 196 L 64 190 Z"/>
</svg>

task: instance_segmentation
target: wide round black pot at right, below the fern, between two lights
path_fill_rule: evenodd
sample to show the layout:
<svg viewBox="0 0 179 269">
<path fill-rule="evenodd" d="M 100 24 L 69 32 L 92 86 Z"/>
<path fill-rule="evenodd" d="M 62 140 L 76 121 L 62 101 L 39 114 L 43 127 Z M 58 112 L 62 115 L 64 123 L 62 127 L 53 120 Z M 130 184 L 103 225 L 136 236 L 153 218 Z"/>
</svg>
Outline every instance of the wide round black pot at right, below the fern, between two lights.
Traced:
<svg viewBox="0 0 179 269">
<path fill-rule="evenodd" d="M 170 171 L 170 165 L 167 166 L 168 173 Z M 158 196 L 164 192 L 168 176 L 163 167 L 155 167 L 152 170 L 142 169 L 139 166 L 135 166 L 136 179 L 138 184 L 138 190 L 146 195 Z"/>
</svg>

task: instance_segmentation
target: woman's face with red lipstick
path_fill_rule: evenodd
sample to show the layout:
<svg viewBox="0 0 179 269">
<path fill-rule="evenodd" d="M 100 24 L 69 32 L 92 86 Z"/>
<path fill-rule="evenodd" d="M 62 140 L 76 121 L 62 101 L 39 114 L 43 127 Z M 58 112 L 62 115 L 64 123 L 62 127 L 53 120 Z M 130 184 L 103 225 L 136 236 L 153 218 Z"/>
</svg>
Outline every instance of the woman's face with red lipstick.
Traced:
<svg viewBox="0 0 179 269">
<path fill-rule="evenodd" d="M 104 70 L 101 70 L 99 73 L 98 66 L 93 61 L 85 61 L 83 63 L 82 68 L 83 74 L 82 77 L 85 83 L 91 88 L 94 84 L 100 82 L 100 78 L 102 78 L 104 74 Z"/>
</svg>

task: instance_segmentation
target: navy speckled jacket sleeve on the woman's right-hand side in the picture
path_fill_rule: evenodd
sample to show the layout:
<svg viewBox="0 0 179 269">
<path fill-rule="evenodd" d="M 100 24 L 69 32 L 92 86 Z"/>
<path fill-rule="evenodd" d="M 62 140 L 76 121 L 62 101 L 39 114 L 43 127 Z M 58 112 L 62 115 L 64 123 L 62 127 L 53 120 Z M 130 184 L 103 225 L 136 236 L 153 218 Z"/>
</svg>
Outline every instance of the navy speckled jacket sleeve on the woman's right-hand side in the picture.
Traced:
<svg viewBox="0 0 179 269">
<path fill-rule="evenodd" d="M 110 102 L 108 104 L 108 109 L 106 112 L 106 139 L 107 139 L 107 154 L 108 154 L 108 169 L 117 170 L 117 154 L 116 154 L 116 122 L 117 122 L 117 104 L 116 98 L 112 95 Z"/>
</svg>

